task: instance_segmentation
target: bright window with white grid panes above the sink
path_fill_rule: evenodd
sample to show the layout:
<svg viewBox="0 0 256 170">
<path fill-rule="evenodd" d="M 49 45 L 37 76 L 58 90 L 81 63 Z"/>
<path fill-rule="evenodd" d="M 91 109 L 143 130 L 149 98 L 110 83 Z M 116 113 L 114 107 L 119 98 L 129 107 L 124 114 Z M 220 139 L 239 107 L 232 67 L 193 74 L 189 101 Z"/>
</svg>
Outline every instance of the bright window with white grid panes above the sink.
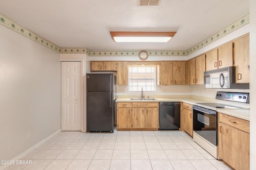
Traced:
<svg viewBox="0 0 256 170">
<path fill-rule="evenodd" d="M 129 93 L 156 92 L 156 66 L 129 66 Z"/>
</svg>

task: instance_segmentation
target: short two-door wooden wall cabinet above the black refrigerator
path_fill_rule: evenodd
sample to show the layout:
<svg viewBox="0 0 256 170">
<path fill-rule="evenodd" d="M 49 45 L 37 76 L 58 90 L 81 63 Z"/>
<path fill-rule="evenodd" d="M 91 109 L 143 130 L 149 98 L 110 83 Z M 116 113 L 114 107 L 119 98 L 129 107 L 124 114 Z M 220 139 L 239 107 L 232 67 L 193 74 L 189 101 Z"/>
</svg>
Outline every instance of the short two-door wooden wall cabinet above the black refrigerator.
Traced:
<svg viewBox="0 0 256 170">
<path fill-rule="evenodd" d="M 116 71 L 116 61 L 90 61 L 90 71 Z"/>
</svg>

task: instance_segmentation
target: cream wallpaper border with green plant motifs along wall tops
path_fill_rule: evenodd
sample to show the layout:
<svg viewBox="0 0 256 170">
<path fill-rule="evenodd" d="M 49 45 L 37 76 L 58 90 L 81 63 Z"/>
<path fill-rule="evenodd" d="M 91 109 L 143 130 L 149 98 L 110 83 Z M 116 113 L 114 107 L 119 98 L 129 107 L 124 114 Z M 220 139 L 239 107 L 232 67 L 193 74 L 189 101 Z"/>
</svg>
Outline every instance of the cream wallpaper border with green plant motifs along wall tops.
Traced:
<svg viewBox="0 0 256 170">
<path fill-rule="evenodd" d="M 238 20 L 230 23 L 228 26 L 224 27 L 220 31 L 214 33 L 212 36 L 208 37 L 204 41 L 198 43 L 194 47 L 188 49 L 187 51 L 147 51 L 149 56 L 186 56 L 190 53 L 197 51 L 198 49 L 205 47 L 206 45 L 226 36 L 227 34 L 243 27 L 250 23 L 250 13 L 242 16 Z M 18 25 L 18 23 L 8 19 L 6 16 L 0 14 L 0 24 L 5 27 L 16 31 L 58 53 L 86 53 L 89 56 L 138 56 L 140 51 L 89 51 L 86 48 L 60 48 L 57 45 L 47 41 L 46 39 L 36 35 L 29 29 Z"/>
</svg>

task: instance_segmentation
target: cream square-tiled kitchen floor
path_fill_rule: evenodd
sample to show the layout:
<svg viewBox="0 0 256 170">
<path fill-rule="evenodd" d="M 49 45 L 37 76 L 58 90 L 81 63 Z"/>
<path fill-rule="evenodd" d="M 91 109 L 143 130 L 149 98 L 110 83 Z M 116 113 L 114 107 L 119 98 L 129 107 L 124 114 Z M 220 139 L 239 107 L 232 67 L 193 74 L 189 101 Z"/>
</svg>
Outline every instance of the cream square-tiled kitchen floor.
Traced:
<svg viewBox="0 0 256 170">
<path fill-rule="evenodd" d="M 6 170 L 231 170 L 182 131 L 62 131 Z"/>
</svg>

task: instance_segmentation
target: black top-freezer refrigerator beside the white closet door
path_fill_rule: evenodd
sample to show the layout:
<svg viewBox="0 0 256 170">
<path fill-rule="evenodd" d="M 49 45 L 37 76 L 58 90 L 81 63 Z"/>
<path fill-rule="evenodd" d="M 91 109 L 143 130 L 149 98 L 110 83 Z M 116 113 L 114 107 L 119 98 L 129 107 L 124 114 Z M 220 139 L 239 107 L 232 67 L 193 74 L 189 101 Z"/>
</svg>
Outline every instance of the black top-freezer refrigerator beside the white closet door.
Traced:
<svg viewBox="0 0 256 170">
<path fill-rule="evenodd" d="M 86 131 L 113 132 L 116 76 L 86 74 Z"/>
</svg>

